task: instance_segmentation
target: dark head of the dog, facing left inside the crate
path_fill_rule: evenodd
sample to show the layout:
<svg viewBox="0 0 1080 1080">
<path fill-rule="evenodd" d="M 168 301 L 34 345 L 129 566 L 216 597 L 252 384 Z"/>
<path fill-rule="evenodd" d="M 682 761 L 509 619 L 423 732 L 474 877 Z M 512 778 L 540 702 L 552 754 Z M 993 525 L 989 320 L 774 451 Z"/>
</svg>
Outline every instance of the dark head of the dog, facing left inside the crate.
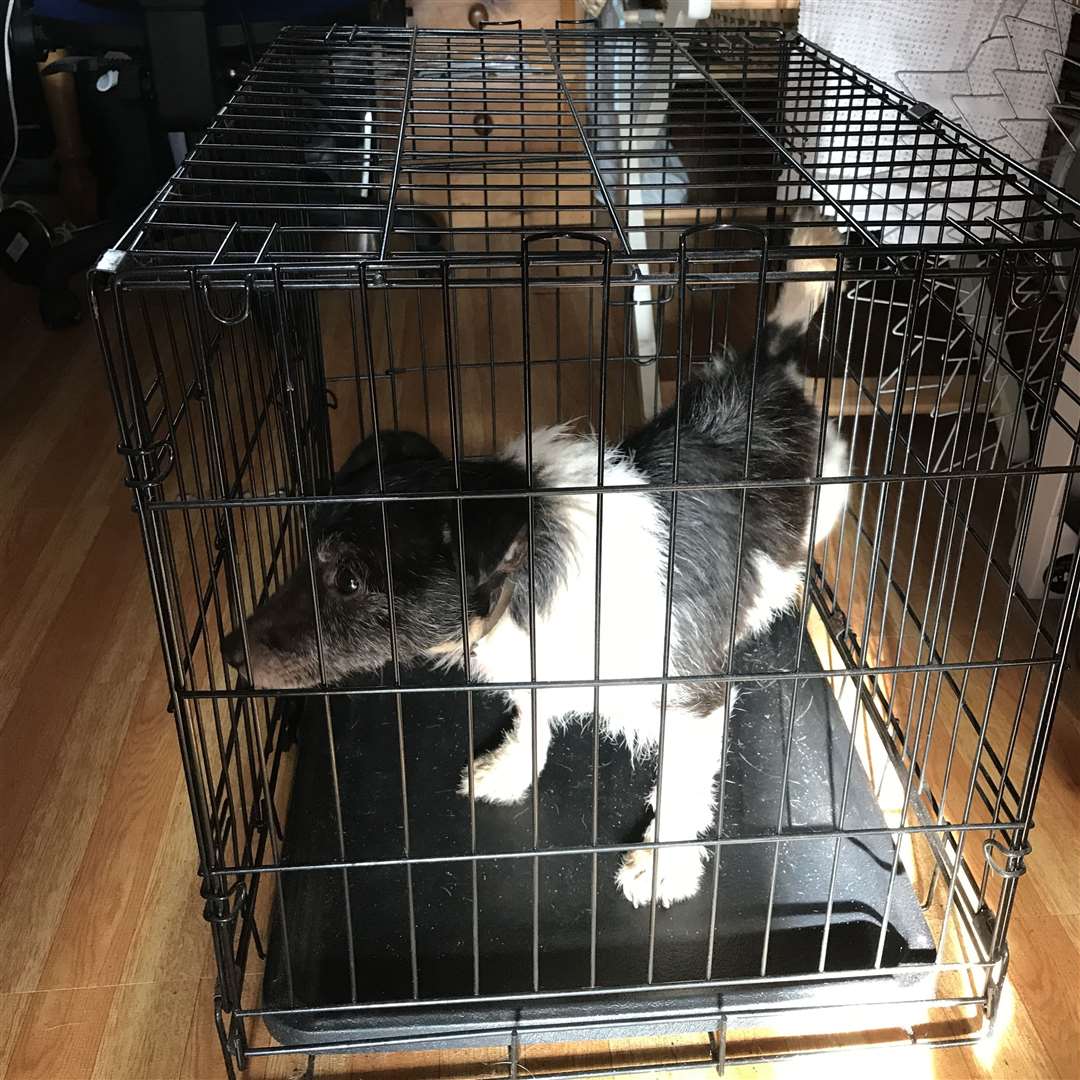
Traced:
<svg viewBox="0 0 1080 1080">
<path fill-rule="evenodd" d="M 335 683 L 395 657 L 460 657 L 462 592 L 472 642 L 504 609 L 526 556 L 524 500 L 461 500 L 459 527 L 453 497 L 408 498 L 454 490 L 450 463 L 430 443 L 389 433 L 380 450 L 387 501 L 335 503 L 315 515 L 310 561 L 221 643 L 225 660 L 254 686 Z M 467 491 L 519 485 L 500 461 L 462 464 L 459 475 Z M 339 472 L 335 494 L 379 490 L 368 440 Z"/>
</svg>

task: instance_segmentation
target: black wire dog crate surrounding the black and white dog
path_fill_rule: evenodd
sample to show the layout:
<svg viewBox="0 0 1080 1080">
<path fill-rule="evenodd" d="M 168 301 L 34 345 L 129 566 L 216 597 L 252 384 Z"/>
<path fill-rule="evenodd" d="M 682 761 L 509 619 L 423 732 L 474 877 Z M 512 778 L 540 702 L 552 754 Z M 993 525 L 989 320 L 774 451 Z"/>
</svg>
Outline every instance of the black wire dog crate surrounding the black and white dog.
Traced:
<svg viewBox="0 0 1080 1080">
<path fill-rule="evenodd" d="M 807 208 L 843 244 L 791 246 Z M 544 1043 L 657 1034 L 686 1036 L 665 1069 L 723 1070 L 797 1050 L 760 1037 L 780 1016 L 977 1036 L 1080 589 L 1016 569 L 1077 472 L 1042 449 L 1078 445 L 1078 208 L 780 31 L 283 33 L 92 278 L 230 1075 L 497 1047 L 484 1075 L 570 1076 Z M 693 900 L 616 893 L 650 769 L 593 718 L 490 807 L 456 788 L 502 699 L 462 672 L 262 690 L 222 663 L 364 436 L 618 442 L 810 280 L 848 509 L 798 609 L 708 673 L 741 698 Z"/>
</svg>

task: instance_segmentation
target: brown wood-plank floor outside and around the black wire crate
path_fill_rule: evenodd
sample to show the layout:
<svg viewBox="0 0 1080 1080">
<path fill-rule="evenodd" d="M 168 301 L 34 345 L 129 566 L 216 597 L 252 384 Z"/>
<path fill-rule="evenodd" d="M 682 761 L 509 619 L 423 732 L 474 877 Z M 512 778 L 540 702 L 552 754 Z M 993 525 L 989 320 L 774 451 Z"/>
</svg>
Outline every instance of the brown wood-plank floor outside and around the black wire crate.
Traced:
<svg viewBox="0 0 1080 1080">
<path fill-rule="evenodd" d="M 225 1074 L 191 825 L 93 330 L 46 334 L 8 285 L 0 318 L 0 1077 L 211 1080 Z M 1078 689 L 1070 676 L 1041 795 L 1053 825 L 1021 886 L 998 1032 L 731 1075 L 1080 1077 Z M 665 1076 L 672 1047 L 646 1051 Z M 558 1056 L 603 1070 L 625 1052 Z M 505 1075 L 497 1061 L 342 1057 L 316 1075 Z M 528 1064 L 540 1071 L 541 1055 Z M 279 1059 L 251 1075 L 301 1070 Z"/>
</svg>

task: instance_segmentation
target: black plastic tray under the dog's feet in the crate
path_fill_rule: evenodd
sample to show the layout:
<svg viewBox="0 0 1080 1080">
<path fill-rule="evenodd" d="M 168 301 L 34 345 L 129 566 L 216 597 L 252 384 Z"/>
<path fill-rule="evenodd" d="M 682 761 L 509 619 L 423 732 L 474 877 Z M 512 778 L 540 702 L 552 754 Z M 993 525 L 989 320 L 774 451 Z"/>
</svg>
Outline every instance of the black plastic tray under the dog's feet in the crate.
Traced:
<svg viewBox="0 0 1080 1080">
<path fill-rule="evenodd" d="M 772 631 L 740 650 L 739 670 L 794 671 L 798 623 L 778 621 Z M 804 639 L 800 671 L 820 672 Z M 451 676 L 460 679 L 460 675 Z M 431 672 L 416 673 L 423 685 L 440 685 Z M 794 723 L 792 694 L 797 690 Z M 407 789 L 408 839 L 415 858 L 468 855 L 468 799 L 456 792 L 468 759 L 467 696 L 428 692 L 402 696 L 399 738 L 393 694 L 329 700 L 334 752 L 340 786 L 341 836 L 346 861 L 394 860 L 404 852 L 402 770 Z M 509 723 L 496 694 L 473 694 L 477 750 L 495 745 Z M 786 793 L 784 759 L 791 726 Z M 291 796 L 284 861 L 309 864 L 340 861 L 341 848 L 329 760 L 326 712 L 321 698 L 306 703 Z M 824 913 L 836 840 L 815 836 L 836 828 L 848 761 L 850 734 L 827 683 L 822 678 L 772 679 L 743 686 L 728 719 L 725 838 L 748 841 L 777 835 L 783 800 L 783 834 L 775 859 L 775 888 L 768 975 L 818 970 Z M 631 760 L 626 747 L 602 739 L 598 772 L 599 845 L 632 847 L 647 823 L 645 798 L 652 786 L 654 759 Z M 540 781 L 539 847 L 562 849 L 592 842 L 592 723 L 573 721 L 552 744 Z M 854 758 L 847 828 L 885 825 L 865 772 Z M 797 838 L 791 834 L 797 834 Z M 527 851 L 532 847 L 531 799 L 515 807 L 476 807 L 476 850 Z M 769 914 L 777 843 L 737 842 L 719 852 L 719 875 L 712 977 L 756 978 Z M 409 1032 L 460 1032 L 467 1027 L 543 1023 L 545 1018 L 604 1021 L 629 1013 L 643 1016 L 677 1010 L 713 1011 L 725 1002 L 762 1005 L 806 998 L 824 1000 L 836 981 L 815 987 L 801 982 L 754 986 L 688 988 L 660 984 L 705 977 L 713 903 L 713 861 L 697 896 L 658 908 L 652 984 L 649 981 L 649 923 L 646 908 L 634 909 L 615 887 L 618 853 L 596 858 L 596 986 L 625 993 L 572 997 L 591 978 L 592 854 L 501 858 L 476 862 L 476 927 L 481 994 L 476 1000 L 445 1005 L 435 999 L 469 997 L 474 990 L 473 870 L 469 860 L 414 865 L 411 882 L 403 866 L 285 872 L 274 904 L 262 1008 L 301 1010 L 269 1015 L 268 1027 L 284 1043 L 362 1040 Z M 873 968 L 893 860 L 886 834 L 840 841 L 825 970 Z M 536 882 L 534 875 L 538 874 Z M 269 881 L 262 882 L 264 888 Z M 415 921 L 416 983 L 420 1002 L 404 1009 L 314 1012 L 347 1004 L 413 998 L 413 945 L 409 886 Z M 536 907 L 535 907 L 536 904 Z M 534 914 L 537 927 L 539 990 L 564 991 L 548 998 L 534 993 Z M 282 917 L 284 912 L 284 918 Z M 349 963 L 347 913 L 351 916 L 353 964 Z M 287 933 L 286 933 L 287 930 Z M 287 946 L 286 946 L 287 939 Z M 889 902 L 886 967 L 928 963 L 934 944 L 910 881 L 901 870 Z M 351 973 L 352 972 L 352 973 Z M 890 986 L 914 980 L 882 976 L 864 982 L 860 1000 L 888 996 Z M 355 998 L 352 981 L 355 980 Z M 521 996 L 518 1000 L 514 1000 Z M 692 1026 L 692 1025 L 691 1025 Z M 637 1034 L 654 1030 L 647 1018 Z M 620 1034 L 627 1034 L 625 1027 Z M 456 1043 L 460 1044 L 460 1043 Z"/>
</svg>

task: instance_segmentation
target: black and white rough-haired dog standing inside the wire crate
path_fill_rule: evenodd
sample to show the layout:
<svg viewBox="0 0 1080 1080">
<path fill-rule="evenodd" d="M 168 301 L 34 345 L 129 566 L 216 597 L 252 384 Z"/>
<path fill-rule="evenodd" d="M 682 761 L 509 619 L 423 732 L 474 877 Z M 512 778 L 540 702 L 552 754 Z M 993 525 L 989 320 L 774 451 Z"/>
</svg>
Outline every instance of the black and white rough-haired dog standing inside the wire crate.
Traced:
<svg viewBox="0 0 1080 1080">
<path fill-rule="evenodd" d="M 802 268 L 814 264 L 804 260 Z M 252 683 L 265 688 L 308 687 L 321 677 L 335 681 L 376 671 L 393 654 L 392 595 L 400 661 L 460 664 L 467 627 L 470 671 L 477 680 L 638 680 L 602 683 L 599 723 L 608 734 L 624 739 L 631 753 L 656 752 L 663 677 L 723 673 L 732 605 L 735 643 L 791 608 L 802 586 L 808 545 L 823 539 L 842 512 L 846 487 L 821 485 L 811 536 L 814 488 L 804 482 L 815 475 L 820 450 L 823 475 L 841 476 L 848 469 L 846 445 L 832 422 L 822 441 L 820 415 L 792 365 L 825 291 L 821 284 L 785 284 L 756 365 L 752 356 L 715 362 L 688 381 L 677 411 L 669 407 L 618 446 L 602 449 L 595 434 L 565 426 L 534 431 L 532 487 L 544 494 L 532 500 L 531 522 L 527 499 L 504 496 L 529 487 L 524 436 L 496 457 L 459 462 L 462 491 L 500 492 L 498 498 L 387 502 L 389 568 L 380 505 L 333 505 L 315 525 L 313 566 L 300 567 L 247 619 L 243 632 L 226 638 L 226 660 L 246 667 Z M 750 478 L 793 483 L 751 486 L 743 508 L 742 489 L 702 485 L 743 478 L 752 402 Z M 676 428 L 677 480 L 693 486 L 674 501 L 673 525 L 670 488 L 647 486 L 671 485 Z M 454 467 L 421 436 L 387 433 L 378 451 L 387 492 L 456 490 Z M 374 440 L 357 447 L 337 477 L 337 494 L 379 491 L 375 456 Z M 558 492 L 595 487 L 600 462 L 606 494 L 597 545 L 597 496 Z M 534 741 L 539 775 L 553 729 L 569 716 L 594 712 L 592 685 L 537 689 L 535 714 L 530 689 L 507 696 L 515 712 L 511 730 L 461 780 L 462 794 L 471 788 L 490 802 L 524 798 L 532 783 Z M 714 781 L 726 712 L 733 704 L 733 692 L 723 681 L 669 685 L 661 805 L 656 805 L 654 788 L 645 842 L 692 840 L 714 821 Z M 705 855 L 698 845 L 662 850 L 659 903 L 667 906 L 693 895 Z M 639 848 L 623 859 L 618 887 L 635 906 L 652 895 L 653 858 L 654 849 Z"/>
</svg>

